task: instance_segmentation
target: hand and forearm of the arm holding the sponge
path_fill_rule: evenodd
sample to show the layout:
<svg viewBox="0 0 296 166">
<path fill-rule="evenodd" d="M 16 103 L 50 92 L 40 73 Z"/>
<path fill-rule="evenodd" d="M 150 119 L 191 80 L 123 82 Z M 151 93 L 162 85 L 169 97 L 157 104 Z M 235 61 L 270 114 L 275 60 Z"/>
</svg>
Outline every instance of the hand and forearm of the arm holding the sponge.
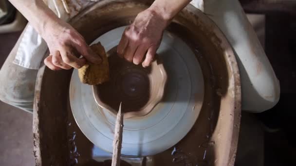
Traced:
<svg viewBox="0 0 296 166">
<path fill-rule="evenodd" d="M 44 60 L 46 66 L 53 70 L 80 68 L 85 59 L 94 64 L 100 63 L 100 57 L 92 52 L 83 37 L 59 19 L 43 0 L 9 1 L 46 41 L 51 54 Z M 77 58 L 80 55 L 82 59 Z"/>
</svg>

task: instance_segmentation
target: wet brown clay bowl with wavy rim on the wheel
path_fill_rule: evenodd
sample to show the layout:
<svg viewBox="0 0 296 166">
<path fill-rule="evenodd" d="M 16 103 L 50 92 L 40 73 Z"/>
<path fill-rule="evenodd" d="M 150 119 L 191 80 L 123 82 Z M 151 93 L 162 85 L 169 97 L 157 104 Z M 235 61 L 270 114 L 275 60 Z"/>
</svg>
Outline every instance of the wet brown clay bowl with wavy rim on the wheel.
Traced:
<svg viewBox="0 0 296 166">
<path fill-rule="evenodd" d="M 146 116 L 164 96 L 167 75 L 156 58 L 149 67 L 120 58 L 117 46 L 107 52 L 110 81 L 93 85 L 93 97 L 100 107 L 117 114 L 120 102 L 124 118 Z"/>
</svg>

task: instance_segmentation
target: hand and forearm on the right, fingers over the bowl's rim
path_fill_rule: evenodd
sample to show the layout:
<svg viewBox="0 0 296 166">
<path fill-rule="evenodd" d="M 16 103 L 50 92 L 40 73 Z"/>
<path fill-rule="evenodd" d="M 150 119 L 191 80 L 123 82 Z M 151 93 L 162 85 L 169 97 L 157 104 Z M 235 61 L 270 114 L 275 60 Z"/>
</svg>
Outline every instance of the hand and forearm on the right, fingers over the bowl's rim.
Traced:
<svg viewBox="0 0 296 166">
<path fill-rule="evenodd" d="M 124 31 L 117 53 L 136 65 L 143 62 L 142 66 L 149 66 L 166 26 L 189 2 L 190 0 L 155 0 Z"/>
</svg>

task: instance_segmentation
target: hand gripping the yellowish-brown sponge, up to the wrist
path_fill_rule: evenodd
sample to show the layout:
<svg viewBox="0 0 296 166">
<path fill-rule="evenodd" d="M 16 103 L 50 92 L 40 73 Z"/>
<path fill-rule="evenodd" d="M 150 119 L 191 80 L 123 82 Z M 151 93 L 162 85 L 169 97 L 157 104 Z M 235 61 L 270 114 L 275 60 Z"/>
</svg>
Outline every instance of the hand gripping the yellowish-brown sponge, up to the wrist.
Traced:
<svg viewBox="0 0 296 166">
<path fill-rule="evenodd" d="M 102 61 L 101 57 L 87 45 L 84 38 L 62 20 L 46 24 L 42 37 L 50 51 L 44 64 L 52 70 L 80 68 L 86 60 L 94 64 Z M 80 55 L 83 57 L 78 58 Z"/>
</svg>

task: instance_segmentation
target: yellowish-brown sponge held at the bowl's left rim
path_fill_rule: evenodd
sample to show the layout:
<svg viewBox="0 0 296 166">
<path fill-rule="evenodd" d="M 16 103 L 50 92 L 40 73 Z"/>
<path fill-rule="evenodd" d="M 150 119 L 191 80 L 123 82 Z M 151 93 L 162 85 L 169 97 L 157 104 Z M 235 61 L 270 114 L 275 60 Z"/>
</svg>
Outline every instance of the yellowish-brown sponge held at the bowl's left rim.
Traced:
<svg viewBox="0 0 296 166">
<path fill-rule="evenodd" d="M 109 81 L 109 63 L 106 51 L 100 42 L 93 44 L 91 49 L 102 58 L 102 63 L 99 65 L 87 62 L 84 66 L 78 69 L 78 76 L 81 83 L 97 85 Z"/>
</svg>

